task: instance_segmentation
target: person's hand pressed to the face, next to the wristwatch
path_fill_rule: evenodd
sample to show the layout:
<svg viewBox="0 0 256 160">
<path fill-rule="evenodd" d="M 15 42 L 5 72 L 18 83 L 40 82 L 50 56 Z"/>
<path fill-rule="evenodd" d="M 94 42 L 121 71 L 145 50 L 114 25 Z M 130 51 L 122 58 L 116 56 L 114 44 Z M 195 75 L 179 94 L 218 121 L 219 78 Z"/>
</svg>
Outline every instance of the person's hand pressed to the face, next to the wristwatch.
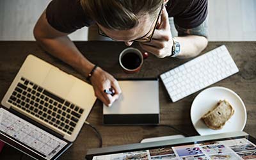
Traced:
<svg viewBox="0 0 256 160">
<path fill-rule="evenodd" d="M 161 22 L 156 28 L 151 42 L 140 43 L 142 49 L 151 52 L 159 58 L 172 55 L 172 33 L 170 29 L 168 13 L 164 7 L 161 13 Z"/>
</svg>

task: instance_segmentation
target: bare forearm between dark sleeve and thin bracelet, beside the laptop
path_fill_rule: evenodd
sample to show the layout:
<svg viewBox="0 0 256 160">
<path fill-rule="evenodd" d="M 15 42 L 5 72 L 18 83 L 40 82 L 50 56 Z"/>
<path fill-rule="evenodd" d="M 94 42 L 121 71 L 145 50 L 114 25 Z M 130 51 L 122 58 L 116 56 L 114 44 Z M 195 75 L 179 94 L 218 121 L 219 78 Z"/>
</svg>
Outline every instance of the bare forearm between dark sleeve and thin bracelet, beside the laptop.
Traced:
<svg viewBox="0 0 256 160">
<path fill-rule="evenodd" d="M 78 51 L 76 45 L 68 36 L 58 38 L 36 38 L 36 41 L 45 49 L 60 60 L 68 63 L 78 72 L 87 76 L 93 68 L 93 64 L 84 58 L 83 54 Z"/>
</svg>

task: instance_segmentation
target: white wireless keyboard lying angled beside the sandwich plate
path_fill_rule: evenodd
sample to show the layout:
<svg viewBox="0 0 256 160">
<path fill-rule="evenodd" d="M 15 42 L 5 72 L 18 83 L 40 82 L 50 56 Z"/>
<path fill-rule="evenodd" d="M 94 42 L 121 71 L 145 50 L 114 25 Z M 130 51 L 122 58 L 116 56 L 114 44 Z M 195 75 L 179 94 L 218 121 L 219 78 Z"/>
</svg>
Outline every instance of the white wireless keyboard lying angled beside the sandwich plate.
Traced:
<svg viewBox="0 0 256 160">
<path fill-rule="evenodd" d="M 225 79 L 239 70 L 225 45 L 161 74 L 173 102 Z"/>
</svg>

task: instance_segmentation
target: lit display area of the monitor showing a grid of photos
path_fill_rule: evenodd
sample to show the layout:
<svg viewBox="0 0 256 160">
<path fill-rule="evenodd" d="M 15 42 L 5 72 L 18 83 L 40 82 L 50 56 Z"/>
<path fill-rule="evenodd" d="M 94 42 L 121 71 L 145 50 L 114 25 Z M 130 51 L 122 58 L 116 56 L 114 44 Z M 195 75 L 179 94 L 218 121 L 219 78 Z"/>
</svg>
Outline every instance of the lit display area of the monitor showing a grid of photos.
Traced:
<svg viewBox="0 0 256 160">
<path fill-rule="evenodd" d="M 139 150 L 136 150 L 135 147 L 134 150 L 113 152 L 111 154 L 100 155 L 100 152 L 98 152 L 98 154 L 87 155 L 86 159 L 256 159 L 255 143 L 255 138 L 251 136 L 237 136 L 150 148 L 145 147 Z M 143 146 L 143 144 L 141 145 Z M 124 146 L 120 148 L 124 148 Z M 106 148 L 106 150 L 108 149 Z"/>
</svg>

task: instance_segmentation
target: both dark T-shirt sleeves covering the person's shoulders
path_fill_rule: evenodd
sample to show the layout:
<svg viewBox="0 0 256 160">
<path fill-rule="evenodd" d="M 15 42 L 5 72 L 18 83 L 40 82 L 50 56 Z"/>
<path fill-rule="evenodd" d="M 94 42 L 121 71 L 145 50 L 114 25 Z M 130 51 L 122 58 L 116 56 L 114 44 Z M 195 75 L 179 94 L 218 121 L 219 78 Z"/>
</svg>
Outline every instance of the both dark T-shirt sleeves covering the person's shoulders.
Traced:
<svg viewBox="0 0 256 160">
<path fill-rule="evenodd" d="M 207 17 L 207 0 L 169 0 L 166 10 L 179 27 L 195 28 Z M 79 0 L 52 0 L 47 6 L 46 18 L 54 29 L 64 33 L 95 23 Z"/>
</svg>

